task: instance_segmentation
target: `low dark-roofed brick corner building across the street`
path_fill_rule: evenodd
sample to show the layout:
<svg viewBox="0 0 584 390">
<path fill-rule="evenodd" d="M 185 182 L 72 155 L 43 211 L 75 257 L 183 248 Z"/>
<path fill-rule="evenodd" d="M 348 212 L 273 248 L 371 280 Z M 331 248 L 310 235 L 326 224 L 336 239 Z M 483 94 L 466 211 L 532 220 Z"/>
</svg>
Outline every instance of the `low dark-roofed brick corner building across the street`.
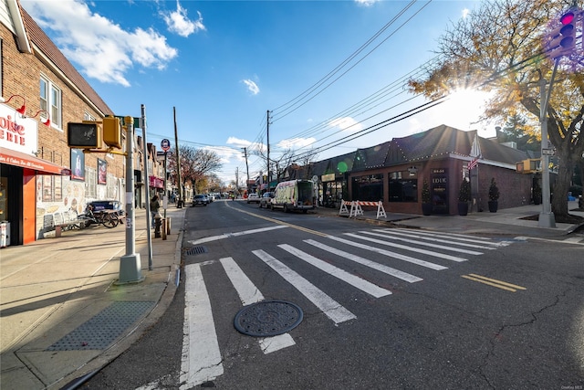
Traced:
<svg viewBox="0 0 584 390">
<path fill-rule="evenodd" d="M 335 207 L 340 200 L 383 203 L 386 211 L 422 214 L 422 183 L 430 186 L 435 215 L 457 214 L 458 191 L 471 182 L 472 210 L 488 210 L 492 178 L 499 187 L 500 208 L 532 202 L 533 174 L 516 172 L 527 153 L 495 141 L 441 125 L 426 132 L 394 138 L 290 170 L 287 178 L 318 178 L 320 205 Z M 473 169 L 469 163 L 476 160 Z"/>
</svg>

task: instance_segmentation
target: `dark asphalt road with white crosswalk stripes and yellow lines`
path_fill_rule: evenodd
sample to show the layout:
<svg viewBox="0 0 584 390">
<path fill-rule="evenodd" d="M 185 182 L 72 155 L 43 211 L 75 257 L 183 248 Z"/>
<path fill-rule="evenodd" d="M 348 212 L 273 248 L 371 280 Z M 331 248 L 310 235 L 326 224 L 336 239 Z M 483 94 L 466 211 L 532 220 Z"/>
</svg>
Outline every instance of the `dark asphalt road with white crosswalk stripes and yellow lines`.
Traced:
<svg viewBox="0 0 584 390">
<path fill-rule="evenodd" d="M 171 307 L 83 388 L 583 388 L 582 246 L 422 236 L 244 202 L 189 208 L 186 221 Z M 229 275 L 233 264 L 255 294 L 302 309 L 284 346 L 265 353 L 262 339 L 235 330 L 245 299 Z M 337 306 L 323 309 L 313 290 Z M 185 316 L 185 304 L 199 299 L 210 311 L 191 306 Z"/>
</svg>

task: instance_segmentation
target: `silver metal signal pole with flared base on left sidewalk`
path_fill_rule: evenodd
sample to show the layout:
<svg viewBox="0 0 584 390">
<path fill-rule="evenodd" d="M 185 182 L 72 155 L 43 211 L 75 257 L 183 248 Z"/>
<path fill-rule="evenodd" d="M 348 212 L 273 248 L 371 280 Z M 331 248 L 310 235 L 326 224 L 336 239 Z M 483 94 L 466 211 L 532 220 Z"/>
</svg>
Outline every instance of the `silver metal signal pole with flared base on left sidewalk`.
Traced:
<svg viewBox="0 0 584 390">
<path fill-rule="evenodd" d="M 126 117 L 126 255 L 120 258 L 120 278 L 118 283 L 136 283 L 144 279 L 141 275 L 140 253 L 136 251 L 134 224 L 134 119 Z"/>
</svg>

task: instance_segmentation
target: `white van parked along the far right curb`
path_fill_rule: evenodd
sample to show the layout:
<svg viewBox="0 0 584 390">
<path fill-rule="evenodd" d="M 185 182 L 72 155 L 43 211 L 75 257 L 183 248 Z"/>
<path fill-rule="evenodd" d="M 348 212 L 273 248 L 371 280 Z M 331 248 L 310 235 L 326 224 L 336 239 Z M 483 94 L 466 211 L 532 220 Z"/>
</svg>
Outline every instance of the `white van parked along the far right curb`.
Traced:
<svg viewBox="0 0 584 390">
<path fill-rule="evenodd" d="M 304 213 L 314 208 L 314 183 L 310 180 L 278 183 L 274 193 L 272 208 L 282 208 L 285 212 L 302 210 Z"/>
</svg>

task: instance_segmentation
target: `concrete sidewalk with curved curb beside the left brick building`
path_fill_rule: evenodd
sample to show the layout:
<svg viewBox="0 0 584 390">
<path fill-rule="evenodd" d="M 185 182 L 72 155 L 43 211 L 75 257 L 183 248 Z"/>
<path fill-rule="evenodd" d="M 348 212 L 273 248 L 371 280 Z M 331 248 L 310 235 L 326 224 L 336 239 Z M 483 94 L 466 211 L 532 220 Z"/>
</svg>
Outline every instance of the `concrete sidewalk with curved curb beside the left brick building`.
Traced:
<svg viewBox="0 0 584 390">
<path fill-rule="evenodd" d="M 117 285 L 126 227 L 66 231 L 0 249 L 2 389 L 61 388 L 130 347 L 172 301 L 186 209 L 168 209 L 171 234 L 154 238 L 136 210 L 139 283 Z"/>
</svg>

